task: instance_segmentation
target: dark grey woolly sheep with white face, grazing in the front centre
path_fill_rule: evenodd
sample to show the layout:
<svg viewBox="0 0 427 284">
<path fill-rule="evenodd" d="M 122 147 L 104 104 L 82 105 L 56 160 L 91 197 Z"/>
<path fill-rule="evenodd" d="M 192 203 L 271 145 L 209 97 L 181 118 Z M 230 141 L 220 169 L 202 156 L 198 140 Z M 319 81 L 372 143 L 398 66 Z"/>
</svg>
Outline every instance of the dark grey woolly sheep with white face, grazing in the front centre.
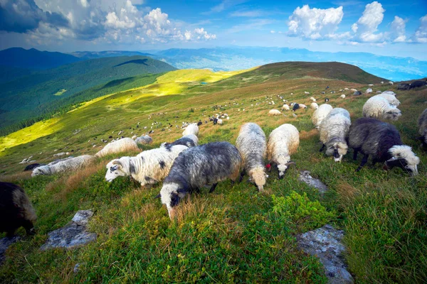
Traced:
<svg viewBox="0 0 427 284">
<path fill-rule="evenodd" d="M 231 143 L 212 142 L 189 148 L 176 158 L 157 198 L 166 204 L 169 218 L 173 219 L 174 207 L 188 193 L 200 192 L 209 184 L 209 192 L 213 192 L 218 182 L 227 178 L 235 181 L 241 167 L 241 155 Z"/>
</svg>

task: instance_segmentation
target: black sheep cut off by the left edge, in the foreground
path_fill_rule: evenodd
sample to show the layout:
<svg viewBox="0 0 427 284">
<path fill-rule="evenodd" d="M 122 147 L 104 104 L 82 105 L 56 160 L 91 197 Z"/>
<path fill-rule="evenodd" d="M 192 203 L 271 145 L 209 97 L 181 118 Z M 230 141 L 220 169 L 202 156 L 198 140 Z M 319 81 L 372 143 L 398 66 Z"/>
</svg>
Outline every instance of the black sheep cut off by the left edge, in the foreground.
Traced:
<svg viewBox="0 0 427 284">
<path fill-rule="evenodd" d="M 33 223 L 37 215 L 26 193 L 18 185 L 0 182 L 0 232 L 9 238 L 21 226 L 27 235 L 36 233 Z"/>
</svg>

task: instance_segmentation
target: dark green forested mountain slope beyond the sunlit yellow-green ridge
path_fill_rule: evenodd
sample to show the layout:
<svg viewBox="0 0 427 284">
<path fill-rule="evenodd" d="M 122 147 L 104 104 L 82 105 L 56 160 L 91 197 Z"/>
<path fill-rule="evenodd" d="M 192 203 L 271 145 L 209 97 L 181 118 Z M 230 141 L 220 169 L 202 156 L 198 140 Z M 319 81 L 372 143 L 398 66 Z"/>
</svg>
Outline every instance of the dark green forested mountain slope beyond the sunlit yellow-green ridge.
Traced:
<svg viewBox="0 0 427 284">
<path fill-rule="evenodd" d="M 0 84 L 0 128 L 40 116 L 46 113 L 46 109 L 51 109 L 52 102 L 100 84 L 126 78 L 132 80 L 131 77 L 138 75 L 157 74 L 174 69 L 167 63 L 152 58 L 132 56 L 85 60 L 33 72 L 31 75 Z M 56 95 L 58 92 L 61 92 L 60 96 Z M 56 105 L 63 107 L 61 102 Z"/>
</svg>

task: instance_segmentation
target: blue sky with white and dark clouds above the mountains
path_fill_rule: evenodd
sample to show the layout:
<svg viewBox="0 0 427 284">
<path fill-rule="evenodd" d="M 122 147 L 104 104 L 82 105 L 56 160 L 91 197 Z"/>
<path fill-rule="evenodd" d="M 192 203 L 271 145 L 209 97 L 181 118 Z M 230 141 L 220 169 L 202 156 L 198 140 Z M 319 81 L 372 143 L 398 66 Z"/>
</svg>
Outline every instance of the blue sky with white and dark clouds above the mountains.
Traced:
<svg viewBox="0 0 427 284">
<path fill-rule="evenodd" d="M 427 0 L 0 0 L 0 49 L 233 45 L 427 60 Z"/>
</svg>

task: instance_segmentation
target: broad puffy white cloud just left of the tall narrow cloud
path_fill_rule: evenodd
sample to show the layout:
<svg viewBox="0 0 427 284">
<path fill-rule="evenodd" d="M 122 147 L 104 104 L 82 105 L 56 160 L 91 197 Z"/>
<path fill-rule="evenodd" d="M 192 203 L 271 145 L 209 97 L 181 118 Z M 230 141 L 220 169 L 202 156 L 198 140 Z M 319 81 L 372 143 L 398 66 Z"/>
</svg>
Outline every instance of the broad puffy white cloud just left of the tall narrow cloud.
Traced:
<svg viewBox="0 0 427 284">
<path fill-rule="evenodd" d="M 297 7 L 289 17 L 288 35 L 310 40 L 347 36 L 335 34 L 342 16 L 342 6 L 330 9 L 310 9 L 308 5 Z"/>
</svg>

